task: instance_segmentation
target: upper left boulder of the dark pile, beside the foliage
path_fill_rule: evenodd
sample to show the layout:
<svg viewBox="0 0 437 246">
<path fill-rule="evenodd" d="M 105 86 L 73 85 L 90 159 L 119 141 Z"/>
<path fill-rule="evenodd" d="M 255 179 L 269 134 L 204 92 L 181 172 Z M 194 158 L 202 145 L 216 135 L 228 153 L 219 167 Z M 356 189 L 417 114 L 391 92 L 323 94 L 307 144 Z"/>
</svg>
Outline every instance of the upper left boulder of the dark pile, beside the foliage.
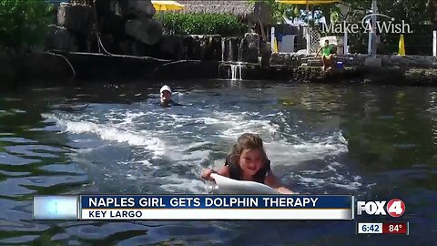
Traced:
<svg viewBox="0 0 437 246">
<path fill-rule="evenodd" d="M 57 26 L 64 26 L 77 34 L 88 35 L 93 23 L 93 8 L 90 5 L 62 4 L 59 6 Z"/>
</svg>

